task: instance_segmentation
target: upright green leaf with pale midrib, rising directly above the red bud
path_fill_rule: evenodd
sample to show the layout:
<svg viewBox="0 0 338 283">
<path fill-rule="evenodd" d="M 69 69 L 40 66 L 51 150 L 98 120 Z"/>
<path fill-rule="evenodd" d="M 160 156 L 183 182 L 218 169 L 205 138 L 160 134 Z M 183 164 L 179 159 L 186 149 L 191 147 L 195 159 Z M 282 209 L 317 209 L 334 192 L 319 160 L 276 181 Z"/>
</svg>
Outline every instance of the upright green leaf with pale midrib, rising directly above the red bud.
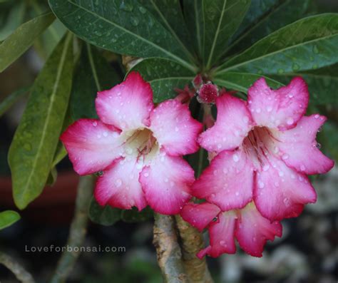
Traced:
<svg viewBox="0 0 338 283">
<path fill-rule="evenodd" d="M 240 26 L 250 0 L 187 0 L 184 5 L 190 33 L 195 38 L 203 66 L 210 68 Z"/>
</svg>

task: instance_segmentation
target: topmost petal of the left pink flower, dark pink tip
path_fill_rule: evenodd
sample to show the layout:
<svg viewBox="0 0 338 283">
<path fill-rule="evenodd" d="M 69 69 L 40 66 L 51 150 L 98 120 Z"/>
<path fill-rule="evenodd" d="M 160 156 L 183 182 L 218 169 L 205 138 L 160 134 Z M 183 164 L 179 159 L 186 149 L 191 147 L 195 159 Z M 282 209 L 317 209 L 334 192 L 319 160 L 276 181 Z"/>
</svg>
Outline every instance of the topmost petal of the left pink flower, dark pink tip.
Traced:
<svg viewBox="0 0 338 283">
<path fill-rule="evenodd" d="M 95 102 L 104 123 L 121 130 L 143 128 L 153 110 L 153 91 L 139 73 L 131 72 L 123 83 L 98 92 Z"/>
</svg>

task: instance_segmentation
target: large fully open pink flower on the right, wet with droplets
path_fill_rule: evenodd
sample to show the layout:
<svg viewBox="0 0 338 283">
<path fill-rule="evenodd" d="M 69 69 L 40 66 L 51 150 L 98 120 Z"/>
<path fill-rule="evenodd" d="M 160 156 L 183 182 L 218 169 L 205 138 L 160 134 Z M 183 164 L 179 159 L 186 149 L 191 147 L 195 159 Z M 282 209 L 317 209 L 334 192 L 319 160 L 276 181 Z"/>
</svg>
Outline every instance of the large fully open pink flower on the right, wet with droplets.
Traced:
<svg viewBox="0 0 338 283">
<path fill-rule="evenodd" d="M 296 217 L 315 202 L 307 175 L 326 173 L 334 162 L 316 146 L 326 118 L 304 116 L 308 101 L 299 77 L 275 91 L 260 78 L 247 102 L 229 93 L 217 97 L 215 125 L 199 137 L 200 145 L 217 156 L 193 185 L 193 195 L 222 211 L 254 200 L 271 221 Z"/>
</svg>

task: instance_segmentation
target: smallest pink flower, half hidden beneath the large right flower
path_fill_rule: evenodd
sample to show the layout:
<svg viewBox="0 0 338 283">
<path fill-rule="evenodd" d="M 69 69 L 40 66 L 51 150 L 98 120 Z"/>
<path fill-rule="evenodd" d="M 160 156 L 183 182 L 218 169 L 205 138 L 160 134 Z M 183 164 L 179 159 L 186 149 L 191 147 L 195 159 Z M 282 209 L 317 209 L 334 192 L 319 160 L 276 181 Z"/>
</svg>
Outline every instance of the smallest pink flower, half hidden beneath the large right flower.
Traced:
<svg viewBox="0 0 338 283">
<path fill-rule="evenodd" d="M 181 211 L 183 219 L 198 230 L 208 227 L 210 245 L 198 252 L 199 258 L 209 254 L 219 257 L 220 254 L 236 252 L 235 238 L 240 247 L 254 257 L 262 257 L 267 240 L 282 236 L 280 222 L 270 222 L 260 215 L 253 202 L 241 210 L 221 212 L 217 205 L 204 202 L 200 205 L 189 203 Z"/>
</svg>

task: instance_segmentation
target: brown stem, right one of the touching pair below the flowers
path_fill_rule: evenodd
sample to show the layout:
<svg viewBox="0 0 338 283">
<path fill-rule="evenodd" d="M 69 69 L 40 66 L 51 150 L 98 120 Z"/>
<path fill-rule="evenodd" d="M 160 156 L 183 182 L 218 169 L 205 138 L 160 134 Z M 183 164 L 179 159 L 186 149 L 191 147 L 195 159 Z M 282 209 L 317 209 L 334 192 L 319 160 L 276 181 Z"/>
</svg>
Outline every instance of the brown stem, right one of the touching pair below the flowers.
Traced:
<svg viewBox="0 0 338 283">
<path fill-rule="evenodd" d="M 203 249 L 203 235 L 180 215 L 175 216 L 180 233 L 181 247 L 183 252 L 183 266 L 192 283 L 212 283 L 205 258 L 199 259 L 196 254 Z"/>
</svg>

